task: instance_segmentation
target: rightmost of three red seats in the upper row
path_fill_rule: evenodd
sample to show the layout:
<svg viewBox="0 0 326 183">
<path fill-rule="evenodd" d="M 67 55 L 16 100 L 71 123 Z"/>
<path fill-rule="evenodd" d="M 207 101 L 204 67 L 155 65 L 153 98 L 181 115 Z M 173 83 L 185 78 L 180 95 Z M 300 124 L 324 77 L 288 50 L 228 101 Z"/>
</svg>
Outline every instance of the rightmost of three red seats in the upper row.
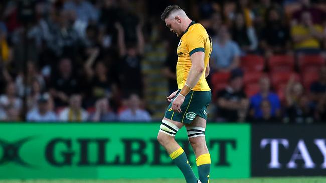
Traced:
<svg viewBox="0 0 326 183">
<path fill-rule="evenodd" d="M 319 71 L 320 67 L 325 65 L 325 59 L 321 55 L 300 55 L 299 68 L 300 71 Z"/>
</svg>

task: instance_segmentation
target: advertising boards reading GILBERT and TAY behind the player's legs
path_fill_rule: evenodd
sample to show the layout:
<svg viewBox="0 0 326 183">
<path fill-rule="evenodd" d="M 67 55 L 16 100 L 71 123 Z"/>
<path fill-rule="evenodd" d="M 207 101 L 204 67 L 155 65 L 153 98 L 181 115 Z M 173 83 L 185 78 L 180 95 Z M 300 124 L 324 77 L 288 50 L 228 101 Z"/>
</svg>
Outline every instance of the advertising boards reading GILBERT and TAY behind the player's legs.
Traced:
<svg viewBox="0 0 326 183">
<path fill-rule="evenodd" d="M 0 179 L 180 178 L 159 123 L 2 123 Z M 208 124 L 213 178 L 326 173 L 326 126 Z M 185 129 L 176 136 L 196 171 Z"/>
</svg>

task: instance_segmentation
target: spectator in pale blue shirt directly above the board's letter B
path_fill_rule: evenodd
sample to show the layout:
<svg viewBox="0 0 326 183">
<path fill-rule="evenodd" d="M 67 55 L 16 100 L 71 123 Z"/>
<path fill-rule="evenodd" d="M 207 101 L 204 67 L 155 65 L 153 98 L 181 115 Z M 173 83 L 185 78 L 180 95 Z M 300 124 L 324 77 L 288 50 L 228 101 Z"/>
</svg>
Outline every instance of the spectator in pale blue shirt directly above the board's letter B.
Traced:
<svg viewBox="0 0 326 183">
<path fill-rule="evenodd" d="M 120 112 L 120 121 L 145 121 L 149 122 L 151 120 L 150 114 L 140 108 L 140 98 L 137 94 L 131 94 L 129 100 L 127 101 L 127 109 Z"/>
</svg>

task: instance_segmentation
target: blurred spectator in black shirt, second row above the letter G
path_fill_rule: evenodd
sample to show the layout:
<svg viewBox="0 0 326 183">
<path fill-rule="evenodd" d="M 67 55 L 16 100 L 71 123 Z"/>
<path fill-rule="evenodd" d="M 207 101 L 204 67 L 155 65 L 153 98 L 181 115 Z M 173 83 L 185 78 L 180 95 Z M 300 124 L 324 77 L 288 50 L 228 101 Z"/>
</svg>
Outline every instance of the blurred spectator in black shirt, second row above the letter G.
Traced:
<svg viewBox="0 0 326 183">
<path fill-rule="evenodd" d="M 72 62 L 68 58 L 60 60 L 58 72 L 51 75 L 50 92 L 54 97 L 56 107 L 65 106 L 68 96 L 76 93 L 79 88 L 79 80 L 73 73 Z"/>
</svg>

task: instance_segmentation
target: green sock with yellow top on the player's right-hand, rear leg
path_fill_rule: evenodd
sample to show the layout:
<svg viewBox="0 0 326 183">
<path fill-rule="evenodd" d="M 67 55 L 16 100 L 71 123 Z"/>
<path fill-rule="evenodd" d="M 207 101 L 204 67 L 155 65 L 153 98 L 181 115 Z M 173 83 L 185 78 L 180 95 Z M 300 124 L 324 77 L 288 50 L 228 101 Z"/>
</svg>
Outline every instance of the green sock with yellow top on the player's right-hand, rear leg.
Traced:
<svg viewBox="0 0 326 183">
<path fill-rule="evenodd" d="M 210 181 L 210 154 L 202 154 L 196 158 L 199 180 L 202 183 L 209 183 Z"/>
</svg>

